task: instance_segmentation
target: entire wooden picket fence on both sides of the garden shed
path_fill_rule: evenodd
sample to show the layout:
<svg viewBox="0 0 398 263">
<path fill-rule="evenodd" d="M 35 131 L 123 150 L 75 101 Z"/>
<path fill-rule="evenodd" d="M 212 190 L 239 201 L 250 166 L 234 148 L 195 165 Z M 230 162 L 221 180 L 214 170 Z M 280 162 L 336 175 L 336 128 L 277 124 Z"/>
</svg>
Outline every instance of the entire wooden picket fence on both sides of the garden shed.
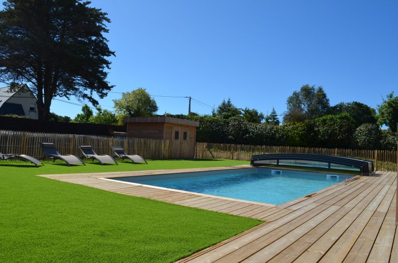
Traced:
<svg viewBox="0 0 398 263">
<path fill-rule="evenodd" d="M 97 154 L 113 155 L 110 146 L 121 146 L 129 154 L 146 159 L 170 159 L 170 140 L 143 138 L 114 138 L 110 136 L 59 134 L 44 132 L 0 131 L 0 151 L 19 153 L 40 158 L 43 151 L 39 142 L 53 142 L 61 154 L 81 156 L 78 145 L 91 145 Z M 357 150 L 338 148 L 309 148 L 292 146 L 244 145 L 223 143 L 196 143 L 196 158 L 216 158 L 249 161 L 253 154 L 262 153 L 313 153 L 339 155 L 374 161 L 379 171 L 397 171 L 397 151 Z"/>
</svg>

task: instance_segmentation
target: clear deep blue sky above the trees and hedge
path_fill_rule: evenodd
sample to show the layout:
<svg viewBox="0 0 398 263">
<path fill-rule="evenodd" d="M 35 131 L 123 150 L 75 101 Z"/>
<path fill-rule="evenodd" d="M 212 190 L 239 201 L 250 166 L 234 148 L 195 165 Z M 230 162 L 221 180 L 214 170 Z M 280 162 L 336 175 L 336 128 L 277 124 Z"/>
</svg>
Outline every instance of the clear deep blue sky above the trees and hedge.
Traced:
<svg viewBox="0 0 398 263">
<path fill-rule="evenodd" d="M 398 92 L 398 1 L 93 0 L 108 13 L 116 57 L 113 91 L 224 98 L 264 113 L 286 110 L 303 84 L 324 87 L 331 105 L 372 107 Z M 111 109 L 109 93 L 100 100 Z M 188 112 L 188 99 L 155 98 L 159 114 Z M 74 117 L 80 107 L 53 102 Z M 192 103 L 192 111 L 210 109 Z"/>
</svg>

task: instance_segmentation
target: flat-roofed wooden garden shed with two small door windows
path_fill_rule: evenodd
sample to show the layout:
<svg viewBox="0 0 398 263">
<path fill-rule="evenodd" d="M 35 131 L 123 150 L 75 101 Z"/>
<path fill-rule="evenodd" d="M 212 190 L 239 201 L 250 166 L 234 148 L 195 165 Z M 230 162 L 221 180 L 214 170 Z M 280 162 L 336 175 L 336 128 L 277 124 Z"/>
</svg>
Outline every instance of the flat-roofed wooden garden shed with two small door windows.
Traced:
<svg viewBox="0 0 398 263">
<path fill-rule="evenodd" d="M 171 141 L 171 158 L 194 158 L 199 122 L 171 117 L 128 117 L 127 136 Z"/>
</svg>

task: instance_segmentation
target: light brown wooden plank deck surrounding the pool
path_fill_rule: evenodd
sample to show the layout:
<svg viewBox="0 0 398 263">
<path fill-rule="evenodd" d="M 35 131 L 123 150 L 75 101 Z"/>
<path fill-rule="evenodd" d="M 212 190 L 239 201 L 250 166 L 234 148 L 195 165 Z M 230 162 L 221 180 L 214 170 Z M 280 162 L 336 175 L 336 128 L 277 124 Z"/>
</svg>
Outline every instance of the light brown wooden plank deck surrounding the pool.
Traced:
<svg viewBox="0 0 398 263">
<path fill-rule="evenodd" d="M 106 191 L 266 220 L 183 262 L 398 262 L 396 172 L 358 176 L 310 196 L 270 205 L 103 178 L 236 169 L 220 167 L 43 175 Z"/>
</svg>

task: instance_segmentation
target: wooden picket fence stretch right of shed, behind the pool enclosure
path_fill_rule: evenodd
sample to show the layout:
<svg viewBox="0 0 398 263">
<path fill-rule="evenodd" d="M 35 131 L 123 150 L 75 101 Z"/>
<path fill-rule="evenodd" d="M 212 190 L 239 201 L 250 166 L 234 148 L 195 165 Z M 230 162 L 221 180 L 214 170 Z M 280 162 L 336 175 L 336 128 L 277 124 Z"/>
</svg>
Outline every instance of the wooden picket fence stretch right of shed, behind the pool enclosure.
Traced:
<svg viewBox="0 0 398 263">
<path fill-rule="evenodd" d="M 358 150 L 338 148 L 310 148 L 293 146 L 245 145 L 197 142 L 197 158 L 216 158 L 249 161 L 253 154 L 312 153 L 372 160 L 375 170 L 397 171 L 397 151 Z"/>
</svg>

